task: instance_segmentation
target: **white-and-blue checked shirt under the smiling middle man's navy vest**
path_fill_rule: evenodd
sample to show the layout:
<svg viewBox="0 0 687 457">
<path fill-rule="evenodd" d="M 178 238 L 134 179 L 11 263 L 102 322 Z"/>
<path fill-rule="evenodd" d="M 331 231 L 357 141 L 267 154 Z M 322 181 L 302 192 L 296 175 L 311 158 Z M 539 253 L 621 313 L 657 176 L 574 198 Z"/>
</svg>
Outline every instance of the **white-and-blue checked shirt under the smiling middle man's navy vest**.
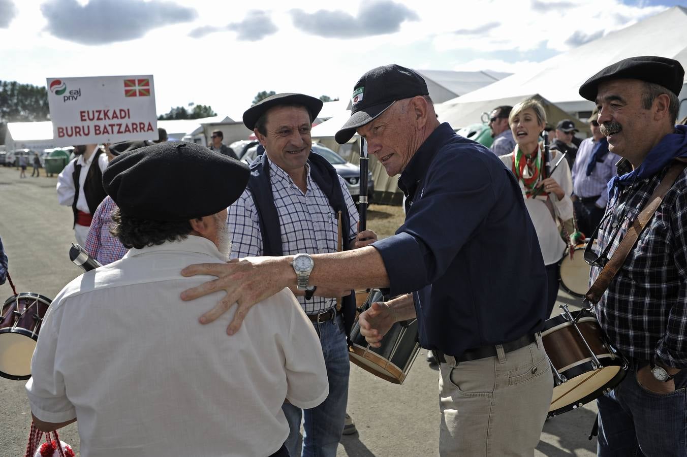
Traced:
<svg viewBox="0 0 687 457">
<path fill-rule="evenodd" d="M 311 178 L 309 165 L 306 165 L 308 191 L 303 194 L 289 174 L 269 159 L 268 161 L 269 181 L 279 215 L 284 255 L 337 252 L 339 221 L 324 192 Z M 350 233 L 348 237 L 344 236 L 343 240 L 350 243 L 357 235 L 358 211 L 341 176 L 339 184 L 350 218 Z M 232 234 L 232 259 L 263 255 L 258 210 L 249 189 L 246 189 L 228 208 L 228 213 L 227 224 L 229 233 Z M 296 298 L 306 314 L 327 311 L 336 303 L 333 298 L 318 296 L 311 300 L 306 300 L 304 296 Z"/>
</svg>

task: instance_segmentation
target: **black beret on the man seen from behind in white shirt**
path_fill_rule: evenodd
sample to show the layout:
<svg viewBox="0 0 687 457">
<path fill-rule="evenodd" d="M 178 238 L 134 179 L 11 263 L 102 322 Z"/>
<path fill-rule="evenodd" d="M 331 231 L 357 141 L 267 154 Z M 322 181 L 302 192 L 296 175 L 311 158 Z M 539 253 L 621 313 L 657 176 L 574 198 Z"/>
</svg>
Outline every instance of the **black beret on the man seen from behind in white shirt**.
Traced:
<svg viewBox="0 0 687 457">
<path fill-rule="evenodd" d="M 248 165 L 195 143 L 164 142 L 110 161 L 102 184 L 130 218 L 181 222 L 234 203 L 248 183 Z"/>
</svg>

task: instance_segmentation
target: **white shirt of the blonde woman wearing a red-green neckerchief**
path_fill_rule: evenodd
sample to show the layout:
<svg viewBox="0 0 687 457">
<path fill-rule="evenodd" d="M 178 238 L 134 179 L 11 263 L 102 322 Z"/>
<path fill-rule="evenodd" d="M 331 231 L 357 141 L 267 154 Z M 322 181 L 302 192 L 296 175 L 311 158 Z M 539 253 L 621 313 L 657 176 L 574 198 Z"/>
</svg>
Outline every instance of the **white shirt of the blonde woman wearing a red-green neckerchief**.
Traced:
<svg viewBox="0 0 687 457">
<path fill-rule="evenodd" d="M 552 163 L 558 162 L 561 158 L 561 152 L 552 151 L 552 153 L 554 154 Z M 499 157 L 499 159 L 501 159 L 508 169 L 513 170 L 512 152 Z M 561 186 L 561 189 L 563 189 L 565 193 L 562 200 L 556 198 L 555 194 L 548 194 L 550 202 L 553 205 L 554 215 L 556 215 L 556 218 L 561 218 L 563 221 L 569 220 L 574 217 L 574 211 L 572 200 L 570 200 L 570 194 L 572 194 L 572 178 L 570 177 L 570 166 L 567 165 L 567 161 L 561 161 L 551 177 L 556 180 L 556 183 Z M 523 198 L 525 198 L 525 206 L 530 213 L 532 224 L 534 224 L 534 231 L 537 232 L 539 248 L 541 248 L 541 255 L 544 258 L 544 265 L 551 265 L 552 263 L 558 262 L 561 260 L 561 257 L 563 257 L 566 245 L 563 238 L 561 238 L 561 229 L 554 215 L 552 215 L 545 200 L 541 200 L 540 198 L 526 198 L 525 188 L 522 182 L 520 182 L 520 189 L 522 190 Z M 546 194 L 542 192 L 541 195 Z M 513 240 L 513 242 L 517 242 L 517 240 Z"/>
</svg>

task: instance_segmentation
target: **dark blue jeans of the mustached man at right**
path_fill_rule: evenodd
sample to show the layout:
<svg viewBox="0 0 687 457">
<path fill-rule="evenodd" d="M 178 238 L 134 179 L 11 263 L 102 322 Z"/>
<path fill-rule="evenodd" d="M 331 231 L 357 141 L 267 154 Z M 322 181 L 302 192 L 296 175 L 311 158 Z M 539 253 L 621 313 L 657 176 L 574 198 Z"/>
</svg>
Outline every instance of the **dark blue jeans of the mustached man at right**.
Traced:
<svg viewBox="0 0 687 457">
<path fill-rule="evenodd" d="M 596 400 L 599 408 L 599 457 L 687 456 L 687 370 L 675 377 L 675 392 L 649 392 L 632 366 L 611 392 Z"/>
</svg>

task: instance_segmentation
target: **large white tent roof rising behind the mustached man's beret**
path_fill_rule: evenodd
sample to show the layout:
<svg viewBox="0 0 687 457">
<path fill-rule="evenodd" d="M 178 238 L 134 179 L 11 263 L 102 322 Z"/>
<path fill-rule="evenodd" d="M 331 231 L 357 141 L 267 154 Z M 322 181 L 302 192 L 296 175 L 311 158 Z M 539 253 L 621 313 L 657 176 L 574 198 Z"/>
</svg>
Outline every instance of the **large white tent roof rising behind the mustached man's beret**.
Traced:
<svg viewBox="0 0 687 457">
<path fill-rule="evenodd" d="M 676 6 L 445 103 L 537 93 L 568 113 L 588 112 L 594 104 L 578 94 L 581 84 L 601 69 L 633 56 L 674 58 L 687 68 L 687 8 Z"/>
</svg>

